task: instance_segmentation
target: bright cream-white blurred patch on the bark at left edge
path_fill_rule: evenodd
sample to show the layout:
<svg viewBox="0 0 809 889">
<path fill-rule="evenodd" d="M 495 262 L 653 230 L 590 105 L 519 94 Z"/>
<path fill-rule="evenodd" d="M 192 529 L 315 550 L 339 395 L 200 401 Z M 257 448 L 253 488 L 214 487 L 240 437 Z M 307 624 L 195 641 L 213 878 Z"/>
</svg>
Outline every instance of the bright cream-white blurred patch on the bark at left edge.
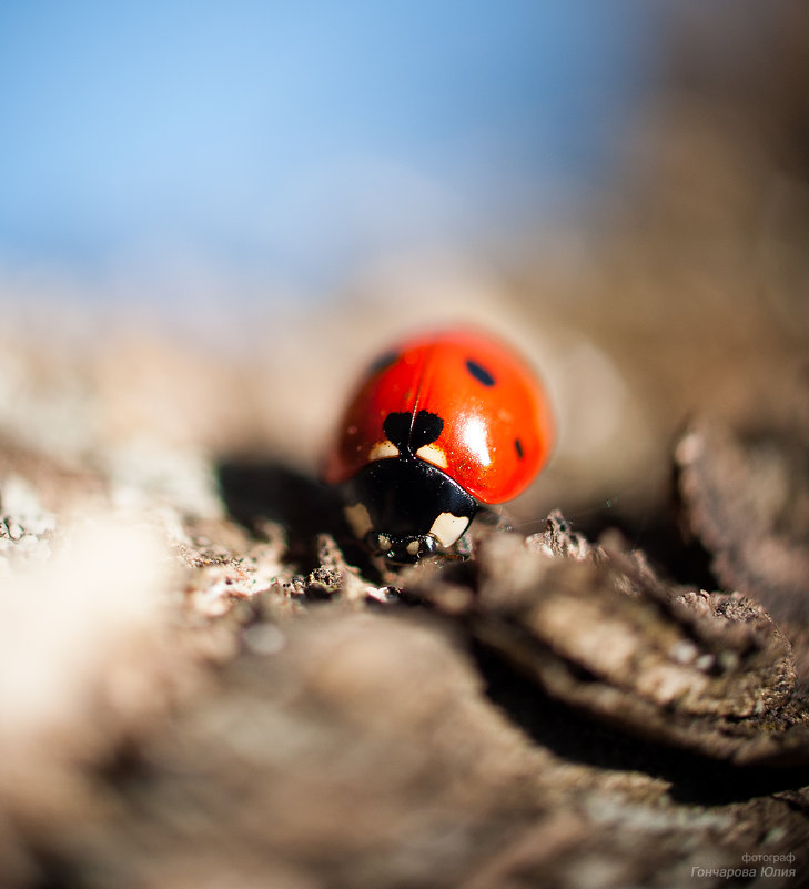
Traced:
<svg viewBox="0 0 809 889">
<path fill-rule="evenodd" d="M 0 494 L 11 508 L 6 486 Z M 143 521 L 84 517 L 62 528 L 51 559 L 2 566 L 0 750 L 7 767 L 52 758 L 44 751 L 53 741 L 68 745 L 61 759 L 87 756 L 105 720 L 112 730 L 111 721 L 164 705 L 154 697 L 152 671 L 169 645 L 164 612 L 176 570 Z"/>
</svg>

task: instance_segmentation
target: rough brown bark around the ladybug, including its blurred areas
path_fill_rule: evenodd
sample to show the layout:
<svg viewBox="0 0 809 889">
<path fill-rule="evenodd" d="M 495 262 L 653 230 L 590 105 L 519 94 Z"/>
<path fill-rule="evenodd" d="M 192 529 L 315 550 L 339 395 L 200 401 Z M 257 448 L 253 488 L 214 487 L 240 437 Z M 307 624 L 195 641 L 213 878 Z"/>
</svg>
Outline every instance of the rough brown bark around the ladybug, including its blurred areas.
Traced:
<svg viewBox="0 0 809 889">
<path fill-rule="evenodd" d="M 3 301 L 0 886 L 809 885 L 809 28 L 695 16 L 591 250 L 235 351 Z M 383 576 L 317 462 L 402 305 L 562 437 Z"/>
</svg>

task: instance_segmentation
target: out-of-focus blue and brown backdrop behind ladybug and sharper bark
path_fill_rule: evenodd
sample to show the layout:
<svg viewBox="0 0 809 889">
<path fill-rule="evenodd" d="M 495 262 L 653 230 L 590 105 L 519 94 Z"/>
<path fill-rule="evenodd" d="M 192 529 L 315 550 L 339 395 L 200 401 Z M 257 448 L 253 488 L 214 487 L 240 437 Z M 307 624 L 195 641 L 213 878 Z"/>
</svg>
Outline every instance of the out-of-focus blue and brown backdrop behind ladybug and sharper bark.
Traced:
<svg viewBox="0 0 809 889">
<path fill-rule="evenodd" d="M 557 410 L 525 527 L 641 528 L 690 417 L 795 413 L 800 2 L 7 3 L 0 40 L 12 437 L 311 475 L 391 336 L 475 322 Z"/>
</svg>

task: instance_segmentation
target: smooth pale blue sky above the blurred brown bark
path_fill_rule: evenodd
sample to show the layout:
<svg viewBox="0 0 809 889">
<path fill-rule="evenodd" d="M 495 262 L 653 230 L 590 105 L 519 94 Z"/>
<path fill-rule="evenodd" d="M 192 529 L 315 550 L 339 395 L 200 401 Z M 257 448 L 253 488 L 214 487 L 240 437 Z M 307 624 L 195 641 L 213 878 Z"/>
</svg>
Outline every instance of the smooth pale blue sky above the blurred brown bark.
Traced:
<svg viewBox="0 0 809 889">
<path fill-rule="evenodd" d="M 658 4 L 0 4 L 0 273 L 204 256 L 323 281 L 610 173 Z"/>
</svg>

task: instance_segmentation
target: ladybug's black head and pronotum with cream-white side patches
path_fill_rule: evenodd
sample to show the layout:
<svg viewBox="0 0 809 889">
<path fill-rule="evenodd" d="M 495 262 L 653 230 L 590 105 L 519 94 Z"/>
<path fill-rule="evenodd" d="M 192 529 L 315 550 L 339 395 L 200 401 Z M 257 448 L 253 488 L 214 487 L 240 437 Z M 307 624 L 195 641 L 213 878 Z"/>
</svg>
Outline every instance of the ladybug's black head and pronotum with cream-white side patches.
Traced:
<svg viewBox="0 0 809 889">
<path fill-rule="evenodd" d="M 436 466 L 391 457 L 370 463 L 346 485 L 345 514 L 372 555 L 409 565 L 447 553 L 477 502 Z"/>
</svg>

